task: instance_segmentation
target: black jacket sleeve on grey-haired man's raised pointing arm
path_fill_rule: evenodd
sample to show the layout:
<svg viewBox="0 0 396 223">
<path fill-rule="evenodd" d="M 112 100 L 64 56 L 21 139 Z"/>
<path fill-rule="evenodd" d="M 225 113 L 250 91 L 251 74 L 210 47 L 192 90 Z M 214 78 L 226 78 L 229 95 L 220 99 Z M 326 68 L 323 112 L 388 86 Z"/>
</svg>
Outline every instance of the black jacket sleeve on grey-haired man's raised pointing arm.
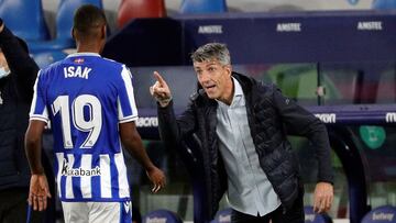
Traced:
<svg viewBox="0 0 396 223">
<path fill-rule="evenodd" d="M 157 105 L 160 136 L 167 146 L 178 146 L 182 140 L 193 133 L 196 126 L 196 116 L 193 102 L 177 119 L 173 109 L 173 101 L 165 108 Z"/>
</svg>

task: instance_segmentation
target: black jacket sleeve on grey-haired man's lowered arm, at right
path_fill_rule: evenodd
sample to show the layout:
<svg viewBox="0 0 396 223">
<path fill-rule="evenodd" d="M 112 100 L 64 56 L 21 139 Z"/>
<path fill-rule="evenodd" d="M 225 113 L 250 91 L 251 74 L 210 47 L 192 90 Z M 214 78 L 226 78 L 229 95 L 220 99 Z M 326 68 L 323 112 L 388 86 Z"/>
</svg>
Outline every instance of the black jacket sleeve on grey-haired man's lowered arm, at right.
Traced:
<svg viewBox="0 0 396 223">
<path fill-rule="evenodd" d="M 324 124 L 295 101 L 283 96 L 277 88 L 274 89 L 273 97 L 287 133 L 305 136 L 314 144 L 319 165 L 318 181 L 332 183 L 331 147 Z"/>
</svg>

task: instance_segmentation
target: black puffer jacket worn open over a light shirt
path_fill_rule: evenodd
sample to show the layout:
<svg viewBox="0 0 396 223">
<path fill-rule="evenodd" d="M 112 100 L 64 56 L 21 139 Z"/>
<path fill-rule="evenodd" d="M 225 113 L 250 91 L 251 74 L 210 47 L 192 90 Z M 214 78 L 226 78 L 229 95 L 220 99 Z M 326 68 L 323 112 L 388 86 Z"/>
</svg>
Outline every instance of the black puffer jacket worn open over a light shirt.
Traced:
<svg viewBox="0 0 396 223">
<path fill-rule="evenodd" d="M 287 134 L 310 140 L 319 161 L 318 181 L 332 182 L 326 126 L 311 113 L 284 97 L 276 87 L 237 73 L 232 76 L 241 83 L 245 94 L 249 126 L 260 165 L 283 207 L 290 208 L 300 191 L 299 164 L 286 138 Z M 216 111 L 217 102 L 209 99 L 204 90 L 191 97 L 187 110 L 177 120 L 172 102 L 166 108 L 158 108 L 163 141 L 178 145 L 189 134 L 196 134 L 200 141 L 210 216 L 217 212 L 218 203 L 227 190 L 227 175 L 216 134 Z"/>
</svg>

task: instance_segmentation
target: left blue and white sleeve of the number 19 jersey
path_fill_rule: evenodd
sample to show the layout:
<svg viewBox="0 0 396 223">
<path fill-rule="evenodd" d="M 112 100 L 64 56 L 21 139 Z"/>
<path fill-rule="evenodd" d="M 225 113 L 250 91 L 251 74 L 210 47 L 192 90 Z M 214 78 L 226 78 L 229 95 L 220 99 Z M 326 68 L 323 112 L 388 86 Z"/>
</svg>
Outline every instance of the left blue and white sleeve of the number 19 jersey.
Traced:
<svg viewBox="0 0 396 223">
<path fill-rule="evenodd" d="M 46 97 L 44 94 L 44 81 L 41 70 L 37 74 L 36 81 L 34 83 L 34 94 L 30 110 L 30 120 L 40 120 L 48 123 L 48 110 L 46 108 Z"/>
</svg>

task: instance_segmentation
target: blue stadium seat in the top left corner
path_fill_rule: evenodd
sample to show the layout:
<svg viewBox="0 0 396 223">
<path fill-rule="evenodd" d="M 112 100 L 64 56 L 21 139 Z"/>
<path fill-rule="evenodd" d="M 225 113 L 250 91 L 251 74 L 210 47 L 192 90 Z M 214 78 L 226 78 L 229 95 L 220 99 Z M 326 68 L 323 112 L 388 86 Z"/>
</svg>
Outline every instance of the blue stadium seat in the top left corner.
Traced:
<svg viewBox="0 0 396 223">
<path fill-rule="evenodd" d="M 0 18 L 16 36 L 28 42 L 50 38 L 42 0 L 1 0 Z"/>
</svg>

